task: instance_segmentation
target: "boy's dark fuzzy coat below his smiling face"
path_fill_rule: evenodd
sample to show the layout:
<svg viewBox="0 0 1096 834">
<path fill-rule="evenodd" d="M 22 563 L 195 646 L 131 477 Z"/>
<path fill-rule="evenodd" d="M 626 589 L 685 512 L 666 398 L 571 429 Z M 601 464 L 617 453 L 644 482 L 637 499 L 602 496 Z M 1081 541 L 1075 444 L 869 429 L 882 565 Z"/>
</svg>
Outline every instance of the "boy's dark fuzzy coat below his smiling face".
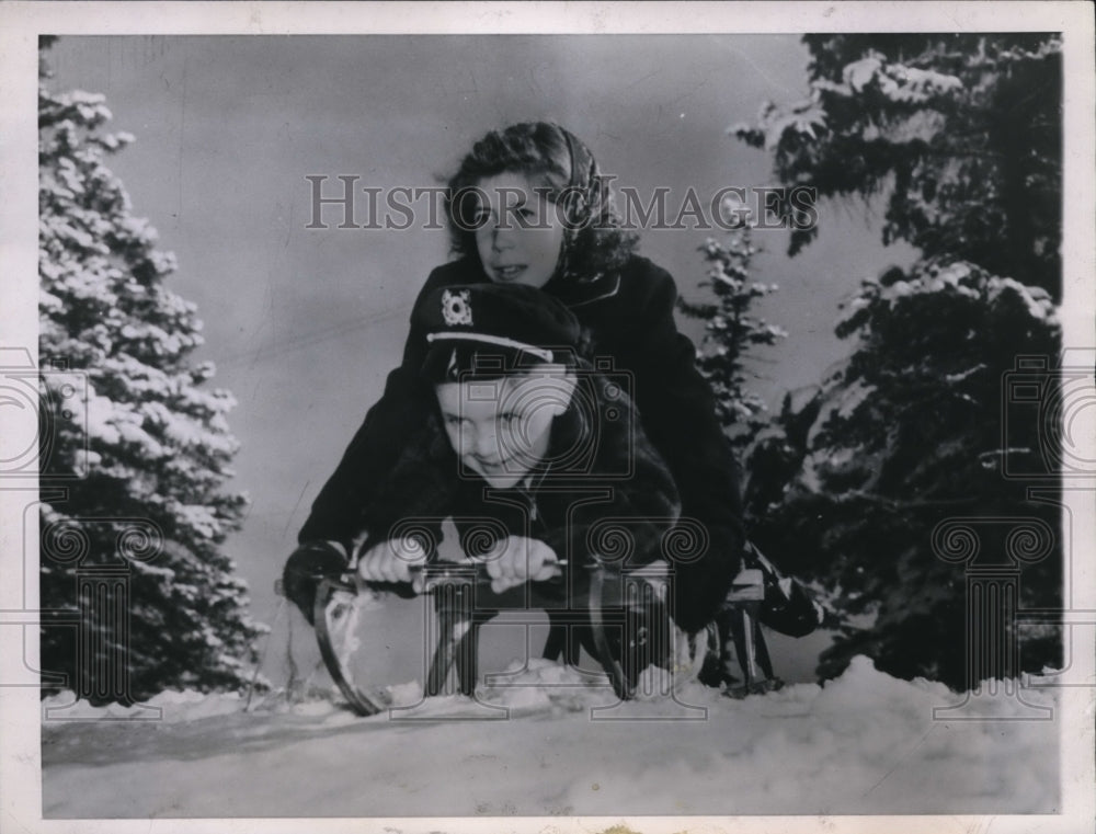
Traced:
<svg viewBox="0 0 1096 834">
<path fill-rule="evenodd" d="M 468 556 L 506 536 L 547 544 L 571 565 L 594 555 L 647 564 L 677 522 L 677 489 L 619 386 L 578 370 L 570 408 L 552 421 L 548 454 L 517 487 L 495 489 L 461 470 L 436 413 L 408 443 L 362 516 L 361 545 L 419 535 L 430 550 L 452 517 Z"/>
</svg>

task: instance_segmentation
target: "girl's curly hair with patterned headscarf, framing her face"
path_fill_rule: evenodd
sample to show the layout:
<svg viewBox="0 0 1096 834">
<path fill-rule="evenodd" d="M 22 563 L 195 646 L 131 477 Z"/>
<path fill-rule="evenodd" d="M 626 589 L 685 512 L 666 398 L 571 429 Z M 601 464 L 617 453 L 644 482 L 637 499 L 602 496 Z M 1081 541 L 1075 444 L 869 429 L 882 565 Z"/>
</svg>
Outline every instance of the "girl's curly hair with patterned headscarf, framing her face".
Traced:
<svg viewBox="0 0 1096 834">
<path fill-rule="evenodd" d="M 479 260 L 476 232 L 461 220 L 455 195 L 504 172 L 523 174 L 553 202 L 566 197 L 563 252 L 553 278 L 595 281 L 635 252 L 639 238 L 621 228 L 609 184 L 586 146 L 559 125 L 526 122 L 477 141 L 449 178 L 445 209 L 455 254 Z"/>
</svg>

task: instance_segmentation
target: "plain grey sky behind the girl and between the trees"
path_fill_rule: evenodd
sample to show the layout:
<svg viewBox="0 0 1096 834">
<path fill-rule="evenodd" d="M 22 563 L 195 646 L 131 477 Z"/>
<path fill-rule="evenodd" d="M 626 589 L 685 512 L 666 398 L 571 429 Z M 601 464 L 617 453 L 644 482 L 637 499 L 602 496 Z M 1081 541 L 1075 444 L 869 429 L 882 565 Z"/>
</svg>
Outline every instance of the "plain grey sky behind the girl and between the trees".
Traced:
<svg viewBox="0 0 1096 834">
<path fill-rule="evenodd" d="M 670 187 L 676 212 L 690 187 L 707 198 L 773 184 L 768 156 L 726 132 L 766 100 L 802 98 L 807 52 L 790 35 L 67 36 L 49 61 L 53 89 L 104 93 L 111 129 L 137 138 L 110 164 L 178 256 L 169 286 L 198 306 L 198 358 L 239 401 L 230 485 L 252 504 L 227 548 L 269 622 L 308 507 L 398 362 L 411 301 L 447 258 L 445 232 L 424 219 L 339 229 L 328 209 L 331 228 L 307 229 L 305 178 L 326 175 L 331 191 L 338 175 L 430 187 L 487 130 L 552 119 L 618 184 Z M 881 245 L 879 220 L 822 205 L 819 240 L 790 260 L 785 232 L 756 236 L 756 278 L 781 288 L 763 313 L 790 333 L 758 365 L 774 403 L 847 352 L 833 324 L 860 278 L 911 260 Z M 721 235 L 648 230 L 641 251 L 695 298 L 709 233 Z"/>
</svg>

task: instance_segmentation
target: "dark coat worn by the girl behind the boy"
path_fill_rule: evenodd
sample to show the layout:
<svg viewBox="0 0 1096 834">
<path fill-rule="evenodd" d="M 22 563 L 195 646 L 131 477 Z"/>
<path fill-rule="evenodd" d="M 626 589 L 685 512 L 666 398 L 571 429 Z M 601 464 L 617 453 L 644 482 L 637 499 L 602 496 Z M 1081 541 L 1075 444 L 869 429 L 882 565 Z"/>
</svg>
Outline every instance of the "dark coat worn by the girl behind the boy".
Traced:
<svg viewBox="0 0 1096 834">
<path fill-rule="evenodd" d="M 486 282 L 478 262 L 465 258 L 435 269 L 422 295 L 439 287 Z M 544 289 L 562 300 L 587 335 L 584 354 L 628 390 L 650 442 L 673 475 L 685 518 L 706 532 L 704 552 L 676 567 L 678 625 L 701 628 L 718 610 L 741 567 L 744 540 L 737 468 L 716 421 L 711 389 L 696 369 L 693 343 L 674 321 L 677 288 L 670 274 L 632 256 L 618 273 L 596 281 L 552 281 Z M 403 362 L 389 376 L 300 530 L 301 541 L 349 544 L 363 529 L 372 504 L 424 415 L 433 413 L 419 382 L 425 334 L 412 327 Z"/>
</svg>

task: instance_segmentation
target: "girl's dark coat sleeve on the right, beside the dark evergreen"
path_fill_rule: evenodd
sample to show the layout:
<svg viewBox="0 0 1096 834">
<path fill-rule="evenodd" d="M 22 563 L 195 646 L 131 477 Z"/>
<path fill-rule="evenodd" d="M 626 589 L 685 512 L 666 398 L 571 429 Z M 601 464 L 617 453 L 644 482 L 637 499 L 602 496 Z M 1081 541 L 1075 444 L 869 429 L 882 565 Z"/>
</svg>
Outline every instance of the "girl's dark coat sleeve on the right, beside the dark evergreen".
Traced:
<svg viewBox="0 0 1096 834">
<path fill-rule="evenodd" d="M 696 367 L 696 349 L 677 330 L 677 287 L 664 270 L 648 266 L 629 353 L 643 427 L 673 473 L 683 524 L 698 522 L 705 534 L 699 557 L 674 565 L 677 621 L 696 631 L 718 612 L 741 569 L 738 464 L 716 419 L 711 387 Z"/>
</svg>

